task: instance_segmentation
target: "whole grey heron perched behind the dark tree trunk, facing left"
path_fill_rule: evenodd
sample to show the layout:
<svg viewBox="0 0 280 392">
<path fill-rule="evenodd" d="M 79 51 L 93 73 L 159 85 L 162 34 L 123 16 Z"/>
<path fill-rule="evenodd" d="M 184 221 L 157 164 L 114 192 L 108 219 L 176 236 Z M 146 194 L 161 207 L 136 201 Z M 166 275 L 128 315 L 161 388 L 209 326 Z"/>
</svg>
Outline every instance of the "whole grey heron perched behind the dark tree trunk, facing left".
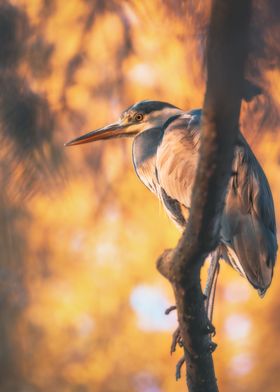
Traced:
<svg viewBox="0 0 280 392">
<path fill-rule="evenodd" d="M 119 120 L 80 136 L 67 146 L 97 140 L 134 137 L 135 171 L 161 201 L 180 229 L 188 219 L 199 157 L 200 109 L 184 112 L 159 101 L 141 101 Z M 220 244 L 212 255 L 206 293 L 211 320 L 219 259 L 223 258 L 258 290 L 262 297 L 271 284 L 277 253 L 275 212 L 266 176 L 239 132 L 232 176 L 227 189 Z"/>
</svg>

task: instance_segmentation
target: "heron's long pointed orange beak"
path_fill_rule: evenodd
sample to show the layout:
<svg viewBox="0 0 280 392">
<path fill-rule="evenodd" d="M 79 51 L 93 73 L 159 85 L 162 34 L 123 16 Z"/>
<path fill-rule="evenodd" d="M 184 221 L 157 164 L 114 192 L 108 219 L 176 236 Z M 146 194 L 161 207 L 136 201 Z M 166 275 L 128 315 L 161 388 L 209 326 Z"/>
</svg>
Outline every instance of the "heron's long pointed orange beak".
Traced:
<svg viewBox="0 0 280 392">
<path fill-rule="evenodd" d="M 75 146 L 77 144 L 84 144 L 89 142 L 95 142 L 96 140 L 105 140 L 122 136 L 130 136 L 133 133 L 127 132 L 127 129 L 131 124 L 119 124 L 114 123 L 107 125 L 107 127 L 97 129 L 95 131 L 86 133 L 83 136 L 77 137 L 76 139 L 71 140 L 68 143 L 65 143 L 65 146 Z"/>
</svg>

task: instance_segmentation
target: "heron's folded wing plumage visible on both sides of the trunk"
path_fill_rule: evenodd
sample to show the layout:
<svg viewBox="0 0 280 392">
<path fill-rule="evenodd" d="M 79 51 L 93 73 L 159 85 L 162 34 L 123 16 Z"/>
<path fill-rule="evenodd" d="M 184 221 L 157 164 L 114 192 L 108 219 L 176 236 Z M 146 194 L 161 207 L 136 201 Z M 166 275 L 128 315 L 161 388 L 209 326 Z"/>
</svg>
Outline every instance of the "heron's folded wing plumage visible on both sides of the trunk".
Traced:
<svg viewBox="0 0 280 392">
<path fill-rule="evenodd" d="M 200 116 L 186 113 L 169 124 L 155 161 L 159 186 L 187 208 L 199 156 Z M 221 227 L 224 257 L 264 294 L 277 252 L 274 204 L 266 176 L 241 133 L 232 170 Z"/>
</svg>

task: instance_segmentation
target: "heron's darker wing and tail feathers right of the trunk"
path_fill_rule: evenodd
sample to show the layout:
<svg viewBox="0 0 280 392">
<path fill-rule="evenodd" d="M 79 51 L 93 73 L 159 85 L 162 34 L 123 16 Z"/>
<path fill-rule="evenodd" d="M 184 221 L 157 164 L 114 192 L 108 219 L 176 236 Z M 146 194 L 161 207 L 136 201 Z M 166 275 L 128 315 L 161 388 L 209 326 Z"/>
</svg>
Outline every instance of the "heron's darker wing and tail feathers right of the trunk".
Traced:
<svg viewBox="0 0 280 392">
<path fill-rule="evenodd" d="M 277 252 L 274 204 L 266 176 L 241 134 L 221 236 L 230 263 L 264 294 L 272 280 Z"/>
</svg>

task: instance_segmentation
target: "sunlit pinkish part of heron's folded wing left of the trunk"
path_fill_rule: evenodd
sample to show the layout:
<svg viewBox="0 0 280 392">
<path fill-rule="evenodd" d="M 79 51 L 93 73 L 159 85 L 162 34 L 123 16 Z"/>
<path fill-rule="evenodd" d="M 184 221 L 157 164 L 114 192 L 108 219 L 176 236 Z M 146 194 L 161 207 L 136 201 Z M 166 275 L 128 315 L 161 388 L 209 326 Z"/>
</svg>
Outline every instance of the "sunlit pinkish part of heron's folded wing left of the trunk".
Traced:
<svg viewBox="0 0 280 392">
<path fill-rule="evenodd" d="M 162 203 L 179 226 L 186 224 L 198 162 L 200 111 L 188 112 L 164 131 L 156 154 Z"/>
</svg>

